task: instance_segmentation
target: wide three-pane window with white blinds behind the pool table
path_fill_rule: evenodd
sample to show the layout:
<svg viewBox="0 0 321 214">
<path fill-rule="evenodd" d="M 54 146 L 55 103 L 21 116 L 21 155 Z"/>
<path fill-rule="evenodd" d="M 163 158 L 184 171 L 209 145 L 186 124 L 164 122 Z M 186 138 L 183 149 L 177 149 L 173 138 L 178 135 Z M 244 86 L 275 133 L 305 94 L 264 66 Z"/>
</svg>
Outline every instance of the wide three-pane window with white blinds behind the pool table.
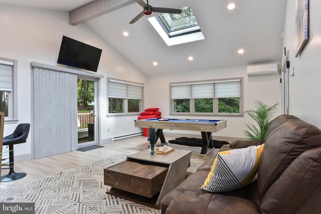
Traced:
<svg viewBox="0 0 321 214">
<path fill-rule="evenodd" d="M 240 115 L 242 79 L 171 83 L 172 114 Z"/>
</svg>

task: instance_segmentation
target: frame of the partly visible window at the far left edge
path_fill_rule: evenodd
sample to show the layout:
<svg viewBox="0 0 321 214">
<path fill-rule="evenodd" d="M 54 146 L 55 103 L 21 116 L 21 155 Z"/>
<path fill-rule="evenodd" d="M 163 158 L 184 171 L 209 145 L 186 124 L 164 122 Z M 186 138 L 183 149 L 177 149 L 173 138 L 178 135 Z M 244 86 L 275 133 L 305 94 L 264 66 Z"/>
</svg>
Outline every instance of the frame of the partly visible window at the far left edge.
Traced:
<svg viewBox="0 0 321 214">
<path fill-rule="evenodd" d="M 9 93 L 8 117 L 5 117 L 5 124 L 17 123 L 18 120 L 18 60 L 0 57 L 0 61 L 13 63 L 12 91 Z M 1 62 L 0 62 L 1 63 Z"/>
</svg>

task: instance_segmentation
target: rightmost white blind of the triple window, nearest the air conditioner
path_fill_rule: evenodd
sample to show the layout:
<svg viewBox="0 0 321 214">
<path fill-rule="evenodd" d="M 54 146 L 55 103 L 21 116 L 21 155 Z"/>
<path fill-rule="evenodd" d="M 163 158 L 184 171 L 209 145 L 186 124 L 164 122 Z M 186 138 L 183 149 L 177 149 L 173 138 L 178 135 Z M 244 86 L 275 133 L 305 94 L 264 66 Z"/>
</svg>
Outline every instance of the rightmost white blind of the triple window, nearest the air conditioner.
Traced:
<svg viewBox="0 0 321 214">
<path fill-rule="evenodd" d="M 241 97 L 241 80 L 215 82 L 215 98 Z"/>
</svg>

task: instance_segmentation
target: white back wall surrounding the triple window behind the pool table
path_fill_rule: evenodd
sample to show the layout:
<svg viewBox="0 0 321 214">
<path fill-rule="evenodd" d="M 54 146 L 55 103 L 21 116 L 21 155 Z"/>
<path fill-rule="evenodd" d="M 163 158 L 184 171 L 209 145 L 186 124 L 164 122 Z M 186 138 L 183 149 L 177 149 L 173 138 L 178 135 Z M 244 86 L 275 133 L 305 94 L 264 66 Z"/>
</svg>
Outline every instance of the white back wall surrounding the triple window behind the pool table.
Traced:
<svg viewBox="0 0 321 214">
<path fill-rule="evenodd" d="M 184 81 L 201 81 L 211 79 L 224 79 L 243 77 L 244 86 L 244 111 L 253 109 L 253 101 L 260 100 L 268 106 L 281 102 L 280 84 L 277 82 L 279 75 L 251 76 L 246 74 L 246 66 L 222 69 L 195 71 L 187 73 L 172 73 L 148 76 L 146 107 L 157 107 L 162 112 L 162 117 L 190 118 L 190 119 L 222 119 L 227 120 L 227 128 L 213 133 L 213 136 L 244 138 L 245 123 L 249 122 L 247 116 L 176 116 L 170 115 L 170 83 Z M 279 105 L 276 115 L 281 114 Z M 164 130 L 168 133 L 197 134 L 199 132 Z"/>
</svg>

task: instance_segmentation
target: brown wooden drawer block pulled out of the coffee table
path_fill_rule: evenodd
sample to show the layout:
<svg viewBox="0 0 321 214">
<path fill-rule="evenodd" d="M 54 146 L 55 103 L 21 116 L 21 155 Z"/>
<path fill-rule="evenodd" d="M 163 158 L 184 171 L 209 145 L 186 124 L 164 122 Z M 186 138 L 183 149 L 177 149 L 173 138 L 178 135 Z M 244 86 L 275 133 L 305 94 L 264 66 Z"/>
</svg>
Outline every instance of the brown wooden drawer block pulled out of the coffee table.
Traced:
<svg viewBox="0 0 321 214">
<path fill-rule="evenodd" d="M 104 169 L 104 184 L 151 198 L 161 191 L 167 171 L 168 167 L 125 160 Z"/>
</svg>

